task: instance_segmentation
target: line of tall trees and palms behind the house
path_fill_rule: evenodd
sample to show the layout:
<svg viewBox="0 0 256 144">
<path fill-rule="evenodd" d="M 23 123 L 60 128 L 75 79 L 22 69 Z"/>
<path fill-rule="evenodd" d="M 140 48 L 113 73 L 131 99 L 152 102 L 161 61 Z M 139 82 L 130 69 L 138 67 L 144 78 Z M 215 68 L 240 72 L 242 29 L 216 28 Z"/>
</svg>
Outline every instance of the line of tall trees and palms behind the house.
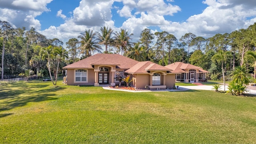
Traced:
<svg viewBox="0 0 256 144">
<path fill-rule="evenodd" d="M 256 70 L 256 23 L 230 34 L 215 34 L 210 38 L 186 33 L 180 39 L 166 31 L 142 30 L 137 42 L 133 34 L 120 28 L 102 27 L 100 32 L 85 30 L 77 38 L 71 38 L 63 48 L 58 38 L 48 39 L 34 28 L 12 28 L 0 21 L 1 76 L 18 75 L 31 69 L 38 76 L 56 79 L 63 74 L 63 66 L 92 56 L 95 53 L 115 53 L 138 61 L 152 61 L 166 66 L 173 62 L 190 63 L 208 70 L 208 79 L 225 79 L 236 66 L 244 66 L 246 72 Z M 51 78 L 51 79 L 54 79 Z M 54 83 L 54 82 L 53 82 Z"/>
</svg>

